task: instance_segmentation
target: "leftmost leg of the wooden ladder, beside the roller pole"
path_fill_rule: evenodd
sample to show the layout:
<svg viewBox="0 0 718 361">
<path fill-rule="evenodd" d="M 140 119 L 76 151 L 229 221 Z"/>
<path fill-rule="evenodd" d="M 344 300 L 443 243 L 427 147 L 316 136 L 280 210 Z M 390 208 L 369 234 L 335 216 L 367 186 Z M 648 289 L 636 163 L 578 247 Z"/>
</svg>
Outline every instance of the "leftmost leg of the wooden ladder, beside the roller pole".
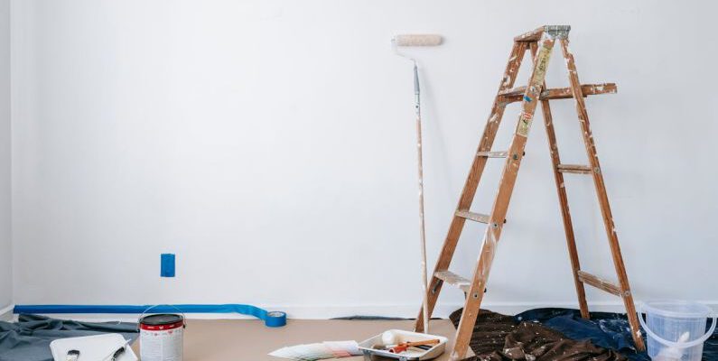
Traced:
<svg viewBox="0 0 718 361">
<path fill-rule="evenodd" d="M 504 109 L 506 103 L 502 102 L 499 94 L 502 91 L 508 90 L 514 86 L 514 81 L 518 74 L 518 68 L 521 65 L 521 61 L 524 59 L 524 54 L 527 51 L 527 43 L 525 42 L 514 42 L 514 46 L 511 49 L 511 54 L 508 57 L 504 76 L 501 78 L 499 84 L 499 91 L 496 98 L 494 99 L 493 106 L 491 107 L 491 114 L 489 120 L 484 128 L 483 135 L 477 150 L 477 156 L 474 157 L 471 163 L 471 169 L 469 176 L 464 183 L 462 195 L 459 199 L 459 204 L 456 206 L 456 211 L 452 217 L 452 224 L 449 227 L 449 232 L 446 235 L 446 239 L 443 242 L 442 252 L 439 258 L 436 260 L 434 267 L 434 273 L 432 273 L 431 282 L 429 283 L 429 290 L 426 297 L 426 302 L 429 304 L 428 317 L 431 318 L 436 300 L 439 297 L 439 293 L 442 290 L 443 280 L 436 277 L 437 273 L 441 273 L 449 268 L 452 262 L 453 253 L 456 250 L 456 244 L 459 241 L 459 236 L 462 234 L 462 229 L 466 218 L 458 216 L 461 211 L 466 211 L 471 207 L 476 189 L 479 186 L 481 175 L 483 174 L 484 167 L 488 157 L 480 156 L 480 153 L 487 153 L 491 150 L 491 146 L 494 143 L 496 134 L 499 131 L 499 124 L 504 115 Z M 415 330 L 422 332 L 424 330 L 424 312 L 419 311 L 419 316 L 416 318 Z"/>
</svg>

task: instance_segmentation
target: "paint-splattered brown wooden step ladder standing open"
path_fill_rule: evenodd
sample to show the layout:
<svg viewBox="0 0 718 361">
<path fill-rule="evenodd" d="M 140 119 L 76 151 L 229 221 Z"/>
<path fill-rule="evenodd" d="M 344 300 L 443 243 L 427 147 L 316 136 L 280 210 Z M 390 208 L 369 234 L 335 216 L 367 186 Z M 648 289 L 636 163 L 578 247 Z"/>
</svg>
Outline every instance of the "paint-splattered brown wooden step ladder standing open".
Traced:
<svg viewBox="0 0 718 361">
<path fill-rule="evenodd" d="M 596 146 L 593 143 L 591 127 L 589 126 L 588 114 L 583 97 L 590 95 L 615 93 L 616 85 L 607 84 L 590 84 L 582 85 L 578 80 L 576 66 L 573 61 L 573 54 L 568 49 L 568 32 L 570 26 L 551 25 L 542 26 L 535 31 L 521 34 L 514 38 L 514 46 L 508 57 L 508 63 L 504 72 L 504 77 L 499 85 L 499 92 L 494 99 L 491 107 L 491 115 L 489 121 L 484 128 L 481 136 L 479 149 L 471 164 L 469 177 L 464 184 L 459 204 L 453 214 L 452 224 L 449 227 L 448 235 L 443 244 L 442 253 L 436 262 L 433 277 L 429 283 L 427 290 L 429 317 L 434 310 L 434 305 L 442 290 L 443 283 L 449 283 L 459 287 L 466 293 L 466 303 L 462 312 L 462 319 L 459 322 L 459 328 L 456 330 L 456 338 L 451 357 L 454 360 L 461 360 L 466 356 L 471 340 L 471 331 L 476 323 L 479 314 L 481 299 L 483 298 L 484 287 L 489 278 L 491 263 L 496 251 L 497 243 L 501 230 L 504 227 L 506 214 L 508 211 L 508 201 L 511 199 L 511 193 L 514 190 L 518 168 L 524 157 L 524 148 L 527 143 L 528 132 L 531 127 L 536 106 L 541 103 L 541 110 L 544 116 L 545 130 L 548 138 L 548 147 L 551 152 L 551 159 L 554 164 L 554 178 L 556 182 L 556 190 L 558 190 L 558 199 L 561 204 L 561 214 L 564 218 L 564 231 L 566 234 L 566 244 L 571 258 L 571 266 L 573 268 L 573 282 L 575 283 L 576 293 L 578 294 L 578 303 L 581 309 L 581 315 L 584 319 L 589 318 L 588 305 L 586 304 L 586 295 L 583 285 L 588 284 L 605 292 L 615 294 L 623 299 L 626 312 L 629 318 L 630 329 L 636 347 L 644 350 L 643 338 L 641 338 L 639 321 L 636 310 L 633 305 L 631 296 L 629 279 L 626 275 L 626 269 L 623 265 L 623 259 L 620 255 L 620 245 L 618 236 L 616 236 L 613 217 L 611 216 L 611 208 L 609 199 L 606 195 L 606 188 L 603 183 L 603 175 L 601 173 L 601 165 L 596 155 Z M 555 42 L 561 46 L 564 55 L 566 68 L 568 69 L 568 79 L 571 84 L 570 88 L 545 88 L 545 72 L 548 67 L 548 60 L 554 48 Z M 512 88 L 514 81 L 518 75 L 518 68 L 524 58 L 524 53 L 530 50 L 533 56 L 533 70 L 526 87 Z M 583 132 L 583 143 L 585 143 L 586 154 L 588 155 L 589 165 L 563 164 L 558 155 L 558 146 L 556 144 L 556 136 L 554 132 L 554 123 L 551 117 L 551 108 L 548 101 L 551 99 L 573 98 L 576 103 L 576 111 Z M 499 130 L 499 124 L 504 114 L 504 109 L 510 103 L 521 102 L 521 115 L 518 118 L 516 132 L 513 134 L 511 145 L 506 152 L 491 151 L 491 145 Z M 494 199 L 493 207 L 489 214 L 475 213 L 470 210 L 471 202 L 476 194 L 479 186 L 481 174 L 484 171 L 486 162 L 490 158 L 505 158 L 506 162 L 501 174 L 499 182 L 499 190 Z M 568 208 L 566 198 L 566 190 L 564 189 L 564 173 L 591 174 L 593 183 L 598 195 L 598 201 L 601 206 L 601 214 L 603 223 L 606 228 L 606 234 L 609 238 L 611 247 L 611 256 L 613 265 L 618 276 L 618 283 L 607 282 L 599 277 L 586 273 L 581 269 L 576 250 L 576 243 L 573 236 L 573 225 L 571 214 Z M 452 262 L 452 256 L 456 250 L 456 244 L 461 236 L 462 228 L 466 220 L 487 224 L 486 232 L 483 236 L 479 260 L 473 270 L 471 279 L 466 279 L 458 274 L 449 271 L 449 264 Z M 416 319 L 415 329 L 422 331 L 424 319 L 421 312 Z"/>
</svg>

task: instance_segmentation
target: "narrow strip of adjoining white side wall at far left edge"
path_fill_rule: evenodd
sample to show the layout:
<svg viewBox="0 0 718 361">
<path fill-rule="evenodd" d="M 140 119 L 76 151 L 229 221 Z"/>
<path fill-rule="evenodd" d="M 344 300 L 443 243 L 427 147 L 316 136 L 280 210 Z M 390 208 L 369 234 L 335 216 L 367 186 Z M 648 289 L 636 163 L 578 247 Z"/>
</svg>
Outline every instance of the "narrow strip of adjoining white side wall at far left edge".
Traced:
<svg viewBox="0 0 718 361">
<path fill-rule="evenodd" d="M 10 0 L 0 0 L 0 317 L 13 303 L 10 162 Z"/>
</svg>

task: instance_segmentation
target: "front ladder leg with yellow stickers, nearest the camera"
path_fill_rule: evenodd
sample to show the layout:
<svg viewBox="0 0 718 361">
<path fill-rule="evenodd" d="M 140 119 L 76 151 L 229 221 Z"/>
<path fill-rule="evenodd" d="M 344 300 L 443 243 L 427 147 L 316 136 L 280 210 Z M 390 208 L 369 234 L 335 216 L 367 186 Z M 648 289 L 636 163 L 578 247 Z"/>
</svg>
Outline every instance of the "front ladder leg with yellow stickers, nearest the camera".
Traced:
<svg viewBox="0 0 718 361">
<path fill-rule="evenodd" d="M 499 191 L 494 199 L 489 224 L 481 245 L 479 262 L 473 271 L 471 288 L 463 308 L 459 328 L 456 330 L 455 344 L 451 355 L 452 360 L 463 359 L 469 348 L 471 332 L 476 323 L 476 318 L 479 315 L 481 300 L 483 299 L 483 290 L 489 279 L 491 264 L 493 262 L 494 253 L 496 252 L 496 245 L 499 242 L 501 229 L 508 212 L 508 202 L 511 199 L 511 193 L 513 193 L 514 185 L 516 184 L 518 169 L 523 159 L 528 132 L 531 129 L 531 123 L 534 118 L 534 113 L 536 112 L 536 105 L 538 104 L 538 97 L 543 90 L 545 72 L 548 68 L 548 60 L 551 57 L 554 42 L 554 35 L 551 32 L 545 32 L 541 40 L 540 49 L 534 57 L 534 69 L 521 102 L 521 116 L 518 118 L 516 132 L 511 141 L 511 146 L 508 149 L 508 157 L 499 182 Z"/>
</svg>

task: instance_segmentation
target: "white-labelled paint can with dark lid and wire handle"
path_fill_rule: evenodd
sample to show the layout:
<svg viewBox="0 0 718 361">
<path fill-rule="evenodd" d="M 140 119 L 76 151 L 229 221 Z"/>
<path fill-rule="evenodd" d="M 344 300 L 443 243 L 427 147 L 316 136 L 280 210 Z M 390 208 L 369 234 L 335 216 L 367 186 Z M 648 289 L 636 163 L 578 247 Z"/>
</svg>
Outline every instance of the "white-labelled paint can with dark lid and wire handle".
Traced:
<svg viewBox="0 0 718 361">
<path fill-rule="evenodd" d="M 139 319 L 142 361 L 182 361 L 184 316 L 169 313 Z"/>
</svg>

